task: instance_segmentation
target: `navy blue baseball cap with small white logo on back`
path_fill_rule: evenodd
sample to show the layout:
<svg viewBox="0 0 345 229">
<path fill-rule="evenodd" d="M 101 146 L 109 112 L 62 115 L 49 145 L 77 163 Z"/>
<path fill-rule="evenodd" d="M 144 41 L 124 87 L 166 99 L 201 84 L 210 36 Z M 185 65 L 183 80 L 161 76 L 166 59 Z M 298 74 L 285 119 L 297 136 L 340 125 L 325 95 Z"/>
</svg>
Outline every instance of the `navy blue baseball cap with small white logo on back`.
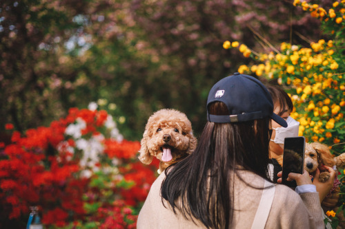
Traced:
<svg viewBox="0 0 345 229">
<path fill-rule="evenodd" d="M 224 102 L 230 115 L 215 116 L 208 113 L 212 102 Z M 253 76 L 239 74 L 219 80 L 208 93 L 208 122 L 245 122 L 270 117 L 282 127 L 287 127 L 286 121 L 273 113 L 273 101 L 270 93 L 259 80 Z"/>
</svg>

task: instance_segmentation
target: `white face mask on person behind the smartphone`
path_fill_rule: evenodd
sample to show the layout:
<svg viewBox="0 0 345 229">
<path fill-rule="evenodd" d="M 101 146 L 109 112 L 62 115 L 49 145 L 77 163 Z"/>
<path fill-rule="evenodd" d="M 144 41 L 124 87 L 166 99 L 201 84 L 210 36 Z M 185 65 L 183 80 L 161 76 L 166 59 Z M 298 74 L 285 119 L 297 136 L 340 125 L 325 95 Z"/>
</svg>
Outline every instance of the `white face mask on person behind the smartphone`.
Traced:
<svg viewBox="0 0 345 229">
<path fill-rule="evenodd" d="M 298 136 L 298 129 L 299 129 L 299 122 L 288 116 L 286 119 L 288 123 L 288 127 L 277 127 L 273 128 L 275 130 L 275 139 L 271 141 L 275 142 L 276 144 L 284 144 L 285 138 L 290 137 L 297 137 Z M 282 146 L 282 145 L 281 145 Z"/>
</svg>

